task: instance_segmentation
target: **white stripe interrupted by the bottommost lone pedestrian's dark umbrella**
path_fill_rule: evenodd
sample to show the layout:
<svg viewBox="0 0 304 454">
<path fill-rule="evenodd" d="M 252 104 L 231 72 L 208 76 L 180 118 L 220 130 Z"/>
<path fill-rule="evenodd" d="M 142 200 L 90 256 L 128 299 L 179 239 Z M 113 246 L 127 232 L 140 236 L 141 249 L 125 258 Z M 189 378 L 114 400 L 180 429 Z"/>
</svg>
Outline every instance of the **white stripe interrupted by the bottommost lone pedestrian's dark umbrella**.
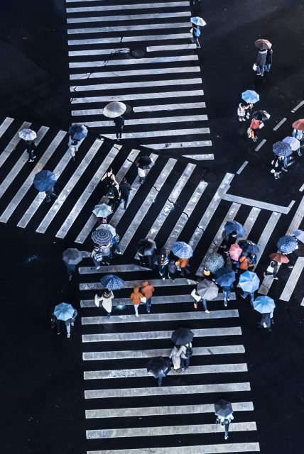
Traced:
<svg viewBox="0 0 304 454">
<path fill-rule="evenodd" d="M 253 411 L 252 402 L 232 402 L 232 408 L 235 411 Z M 214 404 L 200 405 L 174 405 L 174 406 L 146 406 L 124 409 L 98 409 L 86 410 L 86 419 L 94 418 L 129 418 L 131 416 L 162 416 L 165 414 L 200 414 L 214 413 Z"/>
</svg>

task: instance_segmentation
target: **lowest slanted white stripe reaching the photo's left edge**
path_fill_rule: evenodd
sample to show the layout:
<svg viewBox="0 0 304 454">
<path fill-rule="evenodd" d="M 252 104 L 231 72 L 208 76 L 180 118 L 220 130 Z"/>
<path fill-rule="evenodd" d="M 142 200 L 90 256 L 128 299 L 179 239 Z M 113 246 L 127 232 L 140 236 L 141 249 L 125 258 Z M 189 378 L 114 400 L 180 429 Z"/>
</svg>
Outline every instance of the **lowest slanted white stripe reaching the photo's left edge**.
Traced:
<svg viewBox="0 0 304 454">
<path fill-rule="evenodd" d="M 6 206 L 6 209 L 1 214 L 1 216 L 0 216 L 1 222 L 7 222 L 9 220 L 9 218 L 13 214 L 13 211 L 16 210 L 18 204 L 20 204 L 23 197 L 26 195 L 28 190 L 33 185 L 33 178 L 35 177 L 36 173 L 40 172 L 40 170 L 43 170 L 43 167 L 48 162 L 50 157 L 53 155 L 55 150 L 58 148 L 58 145 L 63 140 L 65 135 L 66 135 L 65 131 L 59 131 L 58 134 L 55 136 L 55 138 L 52 140 L 52 142 L 48 146 L 48 149 L 41 156 L 40 160 L 37 162 L 36 166 L 33 168 L 30 175 L 28 175 L 28 178 L 26 179 L 26 181 L 22 184 L 22 186 L 20 187 L 20 189 L 18 190 L 16 195 L 13 197 L 13 199 L 10 201 L 9 205 Z"/>
</svg>

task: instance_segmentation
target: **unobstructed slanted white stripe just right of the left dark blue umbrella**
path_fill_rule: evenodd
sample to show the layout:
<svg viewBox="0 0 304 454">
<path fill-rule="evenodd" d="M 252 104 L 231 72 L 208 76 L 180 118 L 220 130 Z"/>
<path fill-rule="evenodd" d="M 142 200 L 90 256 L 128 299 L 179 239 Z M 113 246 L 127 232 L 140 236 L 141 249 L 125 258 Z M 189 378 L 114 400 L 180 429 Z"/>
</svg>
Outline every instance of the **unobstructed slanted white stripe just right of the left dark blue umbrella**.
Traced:
<svg viewBox="0 0 304 454">
<path fill-rule="evenodd" d="M 49 209 L 48 213 L 43 218 L 43 221 L 40 222 L 38 228 L 36 228 L 36 232 L 38 233 L 45 233 L 46 229 L 55 218 L 56 214 L 60 210 L 61 206 L 63 206 L 65 200 L 70 195 L 73 187 L 77 184 L 78 180 L 82 176 L 83 172 L 87 169 L 88 165 L 94 159 L 99 148 L 102 146 L 103 140 L 95 140 L 92 147 L 89 149 L 83 160 L 80 162 L 80 165 L 77 167 L 75 172 L 73 173 L 72 177 L 68 180 L 65 187 L 60 192 L 58 199 L 55 200 L 51 208 Z"/>
</svg>

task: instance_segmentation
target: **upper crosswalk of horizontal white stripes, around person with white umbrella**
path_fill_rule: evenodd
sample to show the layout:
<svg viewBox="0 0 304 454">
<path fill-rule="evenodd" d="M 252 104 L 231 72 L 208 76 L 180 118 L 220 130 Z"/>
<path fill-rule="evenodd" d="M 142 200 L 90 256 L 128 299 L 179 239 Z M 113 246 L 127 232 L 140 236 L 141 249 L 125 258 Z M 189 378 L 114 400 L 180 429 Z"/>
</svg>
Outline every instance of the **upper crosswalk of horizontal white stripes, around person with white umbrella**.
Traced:
<svg viewBox="0 0 304 454">
<path fill-rule="evenodd" d="M 114 123 L 102 110 L 123 101 L 124 139 L 183 153 L 212 146 L 190 2 L 79 3 L 66 2 L 74 121 L 114 139 Z"/>
</svg>

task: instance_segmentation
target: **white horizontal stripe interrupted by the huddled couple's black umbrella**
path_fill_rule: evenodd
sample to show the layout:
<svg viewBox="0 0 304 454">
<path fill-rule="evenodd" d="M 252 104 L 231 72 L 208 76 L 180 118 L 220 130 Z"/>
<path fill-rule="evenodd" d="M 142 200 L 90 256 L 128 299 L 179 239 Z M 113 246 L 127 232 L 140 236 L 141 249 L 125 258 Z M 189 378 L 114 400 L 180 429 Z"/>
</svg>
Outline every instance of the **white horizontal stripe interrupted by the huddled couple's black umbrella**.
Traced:
<svg viewBox="0 0 304 454">
<path fill-rule="evenodd" d="M 241 336 L 241 328 L 239 328 L 239 326 L 233 326 L 230 328 L 192 329 L 192 333 L 194 333 L 196 337 Z M 151 341 L 154 339 L 169 339 L 171 334 L 172 331 L 82 334 L 82 342 Z"/>
</svg>

